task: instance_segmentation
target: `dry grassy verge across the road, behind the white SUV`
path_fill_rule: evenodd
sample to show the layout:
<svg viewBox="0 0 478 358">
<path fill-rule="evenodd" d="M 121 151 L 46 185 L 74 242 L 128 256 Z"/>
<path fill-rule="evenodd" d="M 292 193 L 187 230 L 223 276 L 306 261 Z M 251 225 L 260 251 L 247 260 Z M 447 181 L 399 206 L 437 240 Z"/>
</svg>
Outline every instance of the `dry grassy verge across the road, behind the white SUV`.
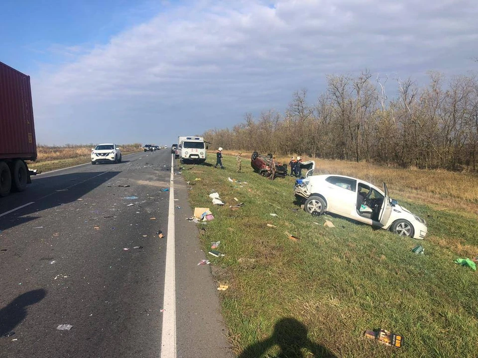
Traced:
<svg viewBox="0 0 478 358">
<path fill-rule="evenodd" d="M 38 147 L 38 158 L 35 162 L 29 161 L 28 168 L 42 172 L 50 172 L 56 169 L 73 167 L 80 164 L 90 163 L 91 147 Z M 141 152 L 137 146 L 121 146 L 121 155 Z"/>
</svg>

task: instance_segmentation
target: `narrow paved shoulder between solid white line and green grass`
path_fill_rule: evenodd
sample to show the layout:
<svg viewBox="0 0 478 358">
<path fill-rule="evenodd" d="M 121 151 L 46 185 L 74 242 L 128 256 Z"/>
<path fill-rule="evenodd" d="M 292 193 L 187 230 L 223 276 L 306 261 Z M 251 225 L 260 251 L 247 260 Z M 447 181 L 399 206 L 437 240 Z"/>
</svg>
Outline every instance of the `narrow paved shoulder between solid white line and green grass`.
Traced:
<svg viewBox="0 0 478 358">
<path fill-rule="evenodd" d="M 221 315 L 218 285 L 199 241 L 199 228 L 186 221 L 193 215 L 187 186 L 174 176 L 176 228 L 176 318 L 177 357 L 235 357 Z M 179 208 L 178 208 L 179 206 Z"/>
</svg>

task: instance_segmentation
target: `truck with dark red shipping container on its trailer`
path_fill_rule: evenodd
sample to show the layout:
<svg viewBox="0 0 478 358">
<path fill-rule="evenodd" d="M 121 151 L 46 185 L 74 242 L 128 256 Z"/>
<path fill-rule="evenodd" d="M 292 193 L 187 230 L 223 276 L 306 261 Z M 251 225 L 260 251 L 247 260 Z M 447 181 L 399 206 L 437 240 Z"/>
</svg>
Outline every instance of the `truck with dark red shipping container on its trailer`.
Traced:
<svg viewBox="0 0 478 358">
<path fill-rule="evenodd" d="M 36 157 L 30 77 L 0 62 L 0 196 L 25 189 Z"/>
</svg>

